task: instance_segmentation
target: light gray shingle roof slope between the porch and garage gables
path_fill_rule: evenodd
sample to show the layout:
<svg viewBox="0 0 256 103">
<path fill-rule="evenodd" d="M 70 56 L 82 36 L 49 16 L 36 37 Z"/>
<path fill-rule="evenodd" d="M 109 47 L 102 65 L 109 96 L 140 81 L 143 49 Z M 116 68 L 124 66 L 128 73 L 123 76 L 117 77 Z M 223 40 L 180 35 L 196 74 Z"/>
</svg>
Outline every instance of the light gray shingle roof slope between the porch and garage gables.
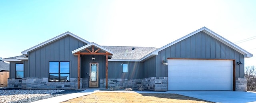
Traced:
<svg viewBox="0 0 256 103">
<path fill-rule="evenodd" d="M 156 50 L 154 47 L 134 47 L 134 46 L 102 46 L 114 52 L 111 59 L 139 60 L 148 53 Z M 134 48 L 134 50 L 132 50 Z"/>
</svg>

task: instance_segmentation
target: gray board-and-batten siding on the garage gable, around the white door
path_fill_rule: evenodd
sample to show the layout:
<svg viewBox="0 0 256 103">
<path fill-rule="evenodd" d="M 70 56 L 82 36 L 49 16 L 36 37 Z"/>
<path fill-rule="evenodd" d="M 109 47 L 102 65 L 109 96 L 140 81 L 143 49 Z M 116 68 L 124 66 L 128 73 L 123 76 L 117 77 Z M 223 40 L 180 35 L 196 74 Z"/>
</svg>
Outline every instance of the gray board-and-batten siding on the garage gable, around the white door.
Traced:
<svg viewBox="0 0 256 103">
<path fill-rule="evenodd" d="M 167 62 L 168 57 L 186 59 L 235 59 L 235 62 L 241 61 L 244 63 L 244 55 L 202 31 L 159 51 L 158 55 L 156 55 L 156 64 L 152 64 L 152 66 L 156 65 L 156 70 L 152 70 L 156 77 L 168 77 L 168 65 L 164 65 L 161 62 L 162 60 Z M 235 66 L 235 76 L 244 77 L 244 65 Z"/>
</svg>

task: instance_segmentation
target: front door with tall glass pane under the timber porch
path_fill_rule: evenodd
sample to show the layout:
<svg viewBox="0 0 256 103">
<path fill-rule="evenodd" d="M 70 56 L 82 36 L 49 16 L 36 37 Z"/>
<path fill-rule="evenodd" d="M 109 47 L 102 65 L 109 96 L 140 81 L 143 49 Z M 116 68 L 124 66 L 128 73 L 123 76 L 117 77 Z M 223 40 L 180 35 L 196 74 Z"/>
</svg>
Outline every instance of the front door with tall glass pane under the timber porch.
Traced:
<svg viewBox="0 0 256 103">
<path fill-rule="evenodd" d="M 99 87 L 99 63 L 90 63 L 89 87 Z"/>
</svg>

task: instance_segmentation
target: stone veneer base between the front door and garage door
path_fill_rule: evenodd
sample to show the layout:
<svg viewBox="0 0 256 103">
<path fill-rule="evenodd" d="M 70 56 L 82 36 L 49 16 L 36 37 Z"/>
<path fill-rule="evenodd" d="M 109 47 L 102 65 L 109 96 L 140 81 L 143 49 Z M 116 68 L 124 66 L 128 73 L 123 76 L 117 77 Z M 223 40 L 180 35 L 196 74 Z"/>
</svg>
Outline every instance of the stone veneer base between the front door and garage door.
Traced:
<svg viewBox="0 0 256 103">
<path fill-rule="evenodd" d="M 114 87 L 115 89 L 132 88 L 138 89 L 139 86 L 144 89 L 150 89 L 154 91 L 167 91 L 168 90 L 168 77 L 149 77 L 144 79 L 108 79 L 108 87 Z M 106 79 L 100 79 L 100 88 L 106 87 Z"/>
</svg>

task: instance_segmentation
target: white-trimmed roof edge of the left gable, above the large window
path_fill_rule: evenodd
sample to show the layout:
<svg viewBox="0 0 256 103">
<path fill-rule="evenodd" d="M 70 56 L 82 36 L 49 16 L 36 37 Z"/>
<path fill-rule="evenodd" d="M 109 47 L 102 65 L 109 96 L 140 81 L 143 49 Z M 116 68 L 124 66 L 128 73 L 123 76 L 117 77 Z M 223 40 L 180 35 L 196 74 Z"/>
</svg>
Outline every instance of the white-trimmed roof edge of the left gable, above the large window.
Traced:
<svg viewBox="0 0 256 103">
<path fill-rule="evenodd" d="M 62 37 L 64 37 L 64 36 L 67 36 L 67 35 L 70 35 L 70 36 L 72 36 L 72 37 L 74 37 L 74 38 L 76 38 L 76 39 L 78 39 L 78 40 L 80 40 L 80 41 L 82 41 L 82 42 L 84 42 L 84 43 L 90 44 L 90 42 L 84 40 L 83 38 L 80 38 L 80 37 L 76 36 L 75 34 L 72 34 L 71 32 L 65 32 L 65 33 L 60 34 L 60 35 L 58 35 L 58 36 L 56 36 L 56 37 L 54 37 L 54 38 L 52 38 L 52 39 L 50 39 L 50 40 L 47 40 L 47 41 L 42 42 L 42 43 L 40 43 L 40 44 L 38 44 L 38 45 L 36 45 L 36 46 L 33 46 L 32 48 L 29 48 L 29 49 L 27 49 L 27 50 L 24 50 L 24 51 L 22 51 L 21 53 L 22 53 L 23 55 L 28 55 L 28 52 L 29 52 L 29 51 L 35 50 L 35 49 L 40 48 L 40 47 L 42 47 L 42 46 L 44 46 L 44 45 L 46 45 L 46 44 L 49 44 L 49 43 L 54 42 L 54 41 L 56 41 L 56 40 L 59 40 L 60 38 L 62 38 Z"/>
</svg>

